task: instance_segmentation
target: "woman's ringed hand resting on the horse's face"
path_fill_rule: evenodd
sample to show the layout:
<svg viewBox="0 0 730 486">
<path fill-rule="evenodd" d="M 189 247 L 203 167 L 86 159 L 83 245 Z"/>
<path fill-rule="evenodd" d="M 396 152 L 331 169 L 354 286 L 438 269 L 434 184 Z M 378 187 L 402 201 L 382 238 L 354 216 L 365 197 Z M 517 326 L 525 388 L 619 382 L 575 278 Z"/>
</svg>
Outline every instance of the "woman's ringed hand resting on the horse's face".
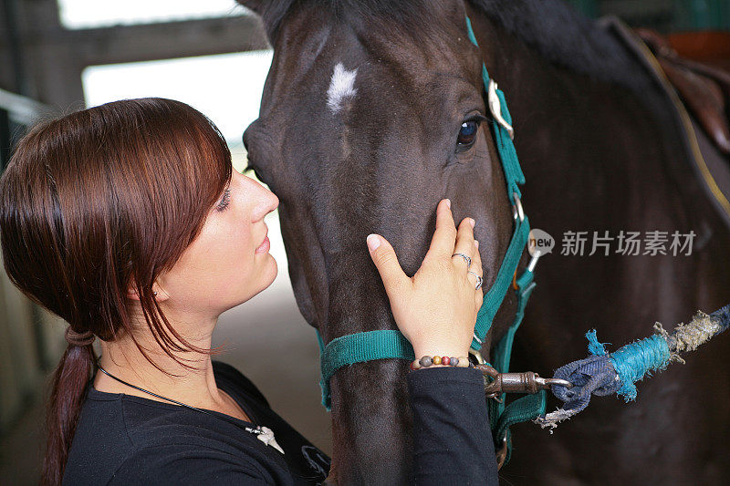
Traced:
<svg viewBox="0 0 730 486">
<path fill-rule="evenodd" d="M 398 328 L 422 356 L 468 356 L 476 313 L 483 292 L 476 277 L 467 273 L 464 253 L 472 259 L 468 268 L 482 276 L 479 243 L 474 241 L 474 220 L 464 218 L 458 231 L 449 200 L 436 207 L 436 231 L 421 268 L 412 277 L 403 273 L 391 243 L 378 234 L 368 236 L 370 256 L 381 274 Z"/>
</svg>

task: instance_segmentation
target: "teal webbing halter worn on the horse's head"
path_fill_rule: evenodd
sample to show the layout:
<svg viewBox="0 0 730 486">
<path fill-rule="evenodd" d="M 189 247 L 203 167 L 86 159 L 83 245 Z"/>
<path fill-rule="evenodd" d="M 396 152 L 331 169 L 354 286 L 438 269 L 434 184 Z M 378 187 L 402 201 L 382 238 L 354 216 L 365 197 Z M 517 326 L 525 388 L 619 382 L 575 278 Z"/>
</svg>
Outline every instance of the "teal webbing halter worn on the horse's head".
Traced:
<svg viewBox="0 0 730 486">
<path fill-rule="evenodd" d="M 466 27 L 469 40 L 472 41 L 474 46 L 479 47 L 474 36 L 472 23 L 468 16 L 466 17 Z M 482 348 L 485 336 L 492 326 L 496 312 L 505 299 L 509 285 L 512 283 L 513 275 L 516 274 L 517 264 L 519 264 L 522 252 L 527 245 L 527 238 L 530 231 L 529 221 L 522 210 L 522 203 L 520 202 L 521 192 L 519 185 L 525 183 L 525 175 L 519 166 L 515 145 L 512 142 L 514 135 L 511 126 L 512 117 L 507 109 L 505 94 L 501 89 L 496 88 L 495 81 L 489 78 L 489 73 L 487 73 L 484 63 L 482 63 L 482 78 L 485 83 L 489 109 L 493 115 L 492 130 L 496 148 L 499 152 L 499 158 L 502 162 L 502 169 L 505 172 L 507 196 L 512 203 L 514 211 L 515 230 L 512 233 L 512 239 L 507 247 L 505 259 L 502 261 L 499 271 L 496 274 L 495 283 L 485 294 L 482 306 L 476 315 L 474 338 L 472 339 L 471 345 L 474 351 L 479 351 Z M 497 371 L 506 372 L 509 367 L 512 342 L 517 327 L 519 327 L 522 322 L 522 317 L 525 314 L 527 299 L 535 288 L 532 269 L 536 263 L 537 258 L 533 258 L 532 262 L 527 266 L 527 269 L 516 279 L 517 311 L 515 320 L 507 330 L 506 335 L 502 337 L 495 347 L 493 361 Z M 340 367 L 371 361 L 373 359 L 400 358 L 408 361 L 415 359 L 411 343 L 398 330 L 366 331 L 340 336 L 330 341 L 327 346 L 324 346 L 322 336 L 319 335 L 319 332 L 317 332 L 317 337 L 322 372 L 319 385 L 322 388 L 322 405 L 327 410 L 330 410 L 331 407 L 329 378 Z M 538 400 L 537 405 L 532 403 L 536 398 Z M 518 408 L 517 410 L 513 408 L 513 413 L 508 414 L 508 416 L 504 413 L 504 399 L 501 404 L 494 402 L 495 405 L 490 400 L 490 418 L 492 421 L 492 430 L 495 432 L 495 439 L 504 440 L 505 444 L 508 442 L 509 426 L 517 421 L 524 421 L 524 419 L 515 419 L 516 416 L 531 415 L 534 412 L 536 414 L 537 412 L 542 414 L 545 412 L 544 391 L 537 396 L 527 396 L 515 400 L 509 405 L 509 408 L 512 408 L 514 405 L 519 405 L 518 402 L 526 399 L 532 400 L 530 406 L 526 407 L 527 403 L 523 401 L 522 406 L 516 407 Z"/>
</svg>

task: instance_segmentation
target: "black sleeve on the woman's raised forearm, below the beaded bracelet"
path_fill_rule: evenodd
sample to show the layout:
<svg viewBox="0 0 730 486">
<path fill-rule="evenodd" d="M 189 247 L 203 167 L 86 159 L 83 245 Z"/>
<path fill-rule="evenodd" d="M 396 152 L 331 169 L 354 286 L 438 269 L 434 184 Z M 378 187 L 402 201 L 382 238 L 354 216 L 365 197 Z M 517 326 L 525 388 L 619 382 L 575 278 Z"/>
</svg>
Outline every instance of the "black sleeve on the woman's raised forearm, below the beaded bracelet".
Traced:
<svg viewBox="0 0 730 486">
<path fill-rule="evenodd" d="M 474 368 L 408 374 L 413 412 L 412 484 L 498 484 L 484 377 Z"/>
</svg>

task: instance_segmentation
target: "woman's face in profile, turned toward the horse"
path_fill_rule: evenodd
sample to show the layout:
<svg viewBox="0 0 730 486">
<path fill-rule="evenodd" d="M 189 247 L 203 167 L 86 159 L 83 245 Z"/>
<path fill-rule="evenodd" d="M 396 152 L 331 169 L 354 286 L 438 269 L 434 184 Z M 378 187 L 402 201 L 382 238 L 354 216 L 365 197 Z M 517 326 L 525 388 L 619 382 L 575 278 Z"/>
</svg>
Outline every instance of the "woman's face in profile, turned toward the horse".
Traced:
<svg viewBox="0 0 730 486">
<path fill-rule="evenodd" d="M 233 171 L 203 229 L 172 269 L 157 279 L 158 300 L 175 310 L 217 317 L 264 290 L 276 278 L 264 216 L 276 195 Z"/>
</svg>

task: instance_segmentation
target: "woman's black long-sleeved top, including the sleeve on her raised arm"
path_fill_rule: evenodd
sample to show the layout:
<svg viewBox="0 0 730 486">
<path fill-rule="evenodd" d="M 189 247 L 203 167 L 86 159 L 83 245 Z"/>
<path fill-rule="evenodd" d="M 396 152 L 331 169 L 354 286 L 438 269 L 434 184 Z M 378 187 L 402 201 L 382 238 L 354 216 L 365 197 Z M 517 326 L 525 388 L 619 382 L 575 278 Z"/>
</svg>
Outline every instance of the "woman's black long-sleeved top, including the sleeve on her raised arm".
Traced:
<svg viewBox="0 0 730 486">
<path fill-rule="evenodd" d="M 218 388 L 256 425 L 274 431 L 282 454 L 242 429 L 255 427 L 148 398 L 91 386 L 68 454 L 64 484 L 319 484 L 329 458 L 271 409 L 234 367 L 213 362 Z M 412 481 L 497 484 L 484 380 L 476 369 L 408 374 L 413 410 Z"/>
</svg>

